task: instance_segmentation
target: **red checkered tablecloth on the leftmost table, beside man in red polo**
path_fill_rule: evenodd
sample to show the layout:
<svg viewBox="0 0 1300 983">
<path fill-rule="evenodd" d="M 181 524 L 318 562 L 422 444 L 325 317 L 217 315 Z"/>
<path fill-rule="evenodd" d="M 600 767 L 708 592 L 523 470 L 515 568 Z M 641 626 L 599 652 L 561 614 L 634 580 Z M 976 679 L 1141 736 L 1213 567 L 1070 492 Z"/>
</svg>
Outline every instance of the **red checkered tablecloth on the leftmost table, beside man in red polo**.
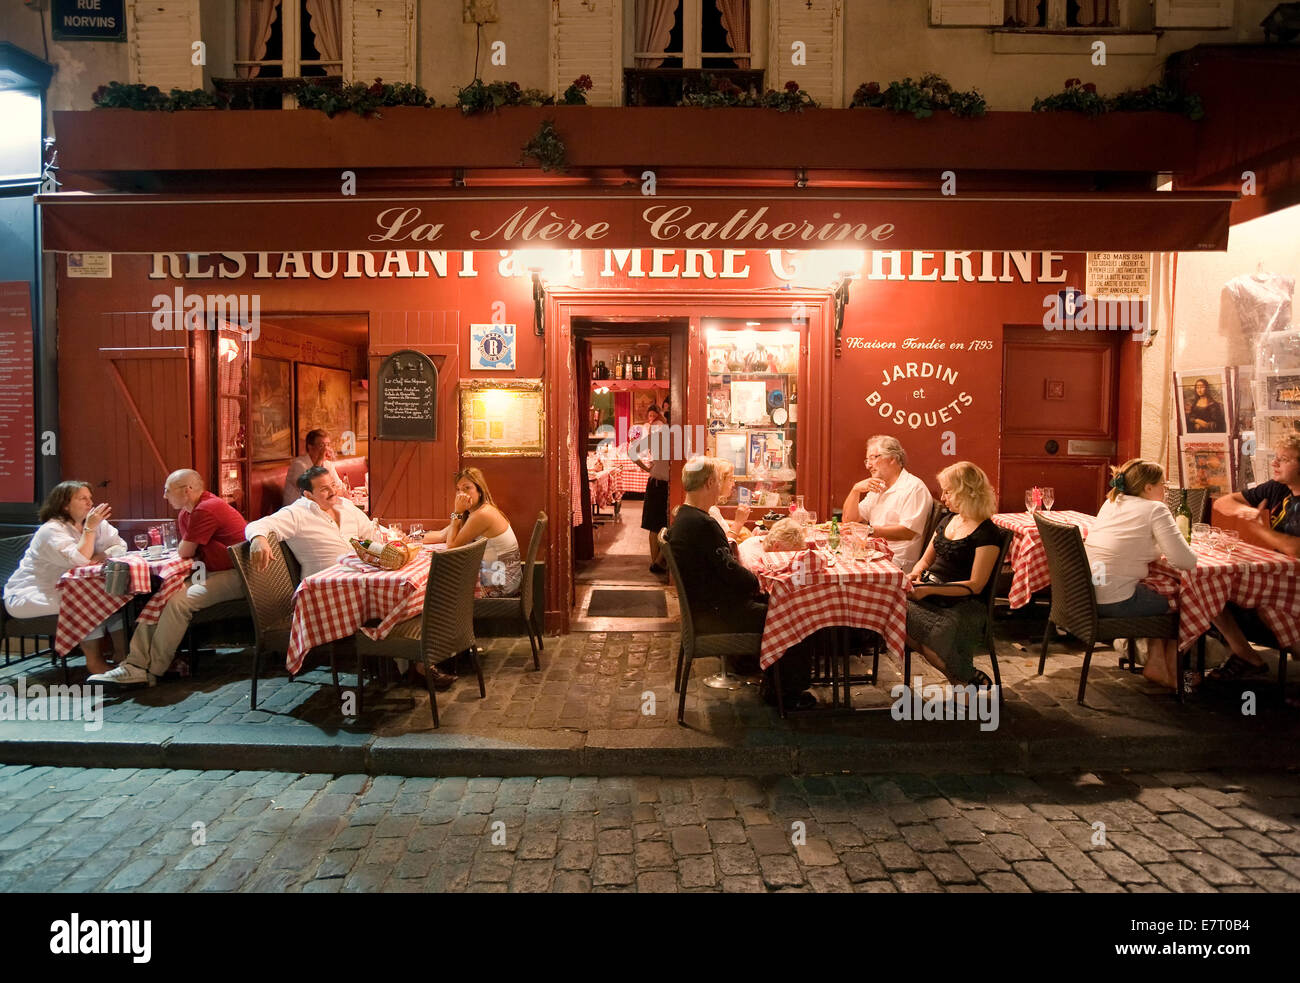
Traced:
<svg viewBox="0 0 1300 983">
<path fill-rule="evenodd" d="M 130 594 L 117 596 L 104 590 L 104 564 L 88 563 L 68 571 L 58 579 L 58 631 L 55 651 L 66 655 L 95 628 L 107 622 L 135 594 L 153 590 L 153 579 L 161 584 L 136 619 L 142 624 L 156 624 L 172 594 L 185 585 L 194 568 L 194 560 L 169 554 L 161 559 L 146 559 L 138 553 L 117 558 L 131 568 Z"/>
</svg>

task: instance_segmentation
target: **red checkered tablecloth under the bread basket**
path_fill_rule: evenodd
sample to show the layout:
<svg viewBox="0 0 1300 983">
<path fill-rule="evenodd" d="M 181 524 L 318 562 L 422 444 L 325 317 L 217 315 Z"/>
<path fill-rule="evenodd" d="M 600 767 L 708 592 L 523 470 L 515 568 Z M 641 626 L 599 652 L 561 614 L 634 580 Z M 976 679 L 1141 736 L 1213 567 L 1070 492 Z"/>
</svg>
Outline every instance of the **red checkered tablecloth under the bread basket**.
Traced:
<svg viewBox="0 0 1300 983">
<path fill-rule="evenodd" d="M 298 672 L 307 653 L 317 645 L 348 638 L 358 631 L 378 641 L 394 625 L 417 616 L 429 583 L 430 553 L 420 550 L 402 570 L 378 570 L 356 557 L 344 557 L 303 580 L 294 594 L 294 620 L 285 654 L 289 672 Z M 370 620 L 380 624 L 361 628 Z"/>
</svg>

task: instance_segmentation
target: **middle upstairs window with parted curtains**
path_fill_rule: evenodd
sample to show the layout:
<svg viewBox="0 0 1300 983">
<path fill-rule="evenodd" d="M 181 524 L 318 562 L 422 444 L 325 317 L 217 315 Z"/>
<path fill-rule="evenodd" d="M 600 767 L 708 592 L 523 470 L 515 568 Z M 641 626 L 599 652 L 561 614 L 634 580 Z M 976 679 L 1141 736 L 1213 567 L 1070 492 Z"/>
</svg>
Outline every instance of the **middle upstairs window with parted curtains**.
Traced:
<svg viewBox="0 0 1300 983">
<path fill-rule="evenodd" d="M 640 69 L 748 69 L 750 0 L 637 0 Z"/>
</svg>

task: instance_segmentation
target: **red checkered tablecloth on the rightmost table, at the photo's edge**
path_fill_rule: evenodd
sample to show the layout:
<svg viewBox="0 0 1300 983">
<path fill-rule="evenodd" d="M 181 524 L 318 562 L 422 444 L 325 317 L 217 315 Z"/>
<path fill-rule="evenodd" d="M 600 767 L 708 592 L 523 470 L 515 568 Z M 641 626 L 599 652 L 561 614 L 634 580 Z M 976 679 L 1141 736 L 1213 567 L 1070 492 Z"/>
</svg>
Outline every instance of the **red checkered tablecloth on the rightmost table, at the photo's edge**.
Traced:
<svg viewBox="0 0 1300 983">
<path fill-rule="evenodd" d="M 1161 557 L 1143 583 L 1178 602 L 1178 648 L 1192 648 L 1228 601 L 1258 609 L 1284 646 L 1300 645 L 1300 560 L 1242 544 L 1232 555 L 1192 544 L 1196 568 L 1175 570 Z"/>
</svg>

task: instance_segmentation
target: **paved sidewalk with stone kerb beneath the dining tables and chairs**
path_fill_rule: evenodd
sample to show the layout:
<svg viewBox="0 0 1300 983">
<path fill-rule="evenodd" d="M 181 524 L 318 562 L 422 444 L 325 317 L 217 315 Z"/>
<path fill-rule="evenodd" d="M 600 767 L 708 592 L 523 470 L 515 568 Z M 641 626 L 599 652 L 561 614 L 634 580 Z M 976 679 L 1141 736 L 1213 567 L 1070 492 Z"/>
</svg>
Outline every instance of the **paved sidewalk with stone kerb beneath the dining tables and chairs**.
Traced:
<svg viewBox="0 0 1300 983">
<path fill-rule="evenodd" d="M 1121 671 L 1115 654 L 1102 649 L 1093 657 L 1088 706 L 1080 707 L 1080 655 L 1054 645 L 1046 674 L 1037 676 L 1035 629 L 1000 625 L 1002 633 L 1017 631 L 1030 648 L 998 642 L 1004 703 L 991 731 L 970 720 L 893 719 L 889 689 L 902 681 L 901 664 L 888 657 L 883 688 L 855 690 L 858 705 L 876 713 L 788 720 L 759 701 L 753 685 L 703 687 L 718 663 L 701 661 L 688 693 L 689 727 L 679 727 L 676 635 L 575 633 L 546 640 L 541 671 L 532 667 L 526 640 L 485 640 L 486 700 L 472 675 L 463 676 L 439 694 L 437 731 L 426 693 L 404 684 L 370 683 L 365 714 L 346 719 L 328 667 L 296 680 L 272 667 L 259 684 L 259 707 L 250 711 L 250 654 L 226 650 L 207 658 L 195 677 L 108 696 L 98 731 L 81 722 L 0 720 L 0 761 L 573 776 L 1269 768 L 1294 758 L 1300 714 L 1279 707 L 1273 680 L 1253 680 L 1254 714 L 1243 714 L 1236 690 L 1179 706 L 1171 693 Z M 927 684 L 942 683 L 914 661 L 914 672 L 922 668 Z M 81 674 L 73 670 L 74 681 Z M 16 685 L 20 676 L 27 685 L 61 679 L 48 663 L 29 659 L 0 670 L 0 685 Z M 348 671 L 343 681 L 351 680 Z"/>
</svg>

